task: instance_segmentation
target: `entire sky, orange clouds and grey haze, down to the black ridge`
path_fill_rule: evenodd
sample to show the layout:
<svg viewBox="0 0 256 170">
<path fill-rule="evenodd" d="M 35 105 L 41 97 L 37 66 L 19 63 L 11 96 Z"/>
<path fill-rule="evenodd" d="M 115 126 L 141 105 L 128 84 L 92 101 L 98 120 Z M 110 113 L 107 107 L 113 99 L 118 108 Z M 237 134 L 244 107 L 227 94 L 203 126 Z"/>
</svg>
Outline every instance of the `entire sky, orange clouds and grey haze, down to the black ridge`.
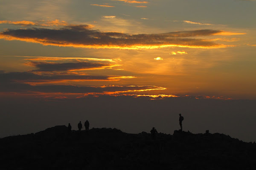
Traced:
<svg viewBox="0 0 256 170">
<path fill-rule="evenodd" d="M 187 123 L 208 118 L 184 130 L 256 140 L 255 9 L 256 0 L 2 0 L 0 137 L 87 118 L 172 133 L 182 112 Z"/>
</svg>

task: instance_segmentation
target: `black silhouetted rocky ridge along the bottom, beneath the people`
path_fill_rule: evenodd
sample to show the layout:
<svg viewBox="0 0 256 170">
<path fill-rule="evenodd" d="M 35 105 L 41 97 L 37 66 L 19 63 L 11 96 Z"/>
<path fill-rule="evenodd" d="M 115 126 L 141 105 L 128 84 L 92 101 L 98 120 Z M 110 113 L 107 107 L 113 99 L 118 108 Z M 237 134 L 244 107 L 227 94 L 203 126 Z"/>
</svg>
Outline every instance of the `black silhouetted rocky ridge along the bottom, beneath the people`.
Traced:
<svg viewBox="0 0 256 170">
<path fill-rule="evenodd" d="M 230 136 L 117 129 L 68 133 L 66 126 L 0 139 L 1 170 L 255 170 L 256 145 Z"/>
</svg>

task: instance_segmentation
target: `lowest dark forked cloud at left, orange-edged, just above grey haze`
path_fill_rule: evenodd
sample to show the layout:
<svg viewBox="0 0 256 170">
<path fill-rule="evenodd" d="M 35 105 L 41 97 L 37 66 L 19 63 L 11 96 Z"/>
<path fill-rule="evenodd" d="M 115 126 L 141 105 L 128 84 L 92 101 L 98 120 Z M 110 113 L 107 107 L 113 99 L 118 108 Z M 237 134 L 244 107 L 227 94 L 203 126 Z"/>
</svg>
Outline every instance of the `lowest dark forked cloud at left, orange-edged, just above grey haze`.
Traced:
<svg viewBox="0 0 256 170">
<path fill-rule="evenodd" d="M 23 93 L 70 93 L 79 95 L 114 95 L 129 92 L 144 92 L 151 90 L 163 90 L 159 86 L 74 86 L 44 84 L 47 81 L 61 80 L 108 80 L 108 76 L 78 76 L 78 75 L 36 75 L 29 72 L 0 73 L 0 92 L 23 92 Z M 34 82 L 34 83 L 33 83 Z M 40 84 L 41 82 L 41 84 Z M 44 85 L 42 85 L 44 84 Z"/>
</svg>

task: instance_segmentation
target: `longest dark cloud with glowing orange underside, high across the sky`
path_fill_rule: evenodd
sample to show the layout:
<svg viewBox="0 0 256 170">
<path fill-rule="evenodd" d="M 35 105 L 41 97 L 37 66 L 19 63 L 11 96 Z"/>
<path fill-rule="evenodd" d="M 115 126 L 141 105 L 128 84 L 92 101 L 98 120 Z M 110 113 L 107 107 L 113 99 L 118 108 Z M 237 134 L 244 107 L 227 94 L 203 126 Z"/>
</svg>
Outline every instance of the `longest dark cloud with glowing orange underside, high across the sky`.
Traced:
<svg viewBox="0 0 256 170">
<path fill-rule="evenodd" d="M 104 16 L 115 18 L 116 16 Z M 163 47 L 224 48 L 232 45 L 218 44 L 197 36 L 242 35 L 245 33 L 225 32 L 222 30 L 194 30 L 160 34 L 131 35 L 121 32 L 100 32 L 90 25 L 67 25 L 62 28 L 6 29 L 0 32 L 0 39 L 20 40 L 53 46 L 72 46 L 82 48 L 109 49 L 155 49 Z"/>
</svg>

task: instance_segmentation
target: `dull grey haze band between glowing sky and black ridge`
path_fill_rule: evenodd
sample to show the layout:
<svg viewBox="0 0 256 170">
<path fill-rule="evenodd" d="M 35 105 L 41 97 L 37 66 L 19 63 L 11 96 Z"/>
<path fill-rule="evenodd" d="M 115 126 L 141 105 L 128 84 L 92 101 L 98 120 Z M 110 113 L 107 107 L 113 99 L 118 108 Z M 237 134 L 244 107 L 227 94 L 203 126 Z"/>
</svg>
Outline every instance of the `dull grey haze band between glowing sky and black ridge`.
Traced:
<svg viewBox="0 0 256 170">
<path fill-rule="evenodd" d="M 256 141 L 255 105 L 249 100 L 195 98 L 99 96 L 79 99 L 1 99 L 0 136 L 35 133 L 56 125 L 72 125 L 87 119 L 92 127 L 111 127 L 126 133 L 158 132 L 172 134 L 179 127 L 192 133 L 224 133 L 243 141 Z M 83 129 L 84 130 L 84 129 Z"/>
</svg>

